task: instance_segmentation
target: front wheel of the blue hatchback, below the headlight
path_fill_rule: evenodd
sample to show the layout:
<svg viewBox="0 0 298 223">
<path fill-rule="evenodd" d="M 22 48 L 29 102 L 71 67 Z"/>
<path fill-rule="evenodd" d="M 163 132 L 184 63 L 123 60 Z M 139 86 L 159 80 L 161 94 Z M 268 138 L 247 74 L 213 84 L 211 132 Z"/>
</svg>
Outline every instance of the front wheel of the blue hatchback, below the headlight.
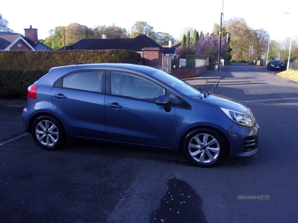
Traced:
<svg viewBox="0 0 298 223">
<path fill-rule="evenodd" d="M 187 134 L 183 149 L 191 163 L 199 167 L 212 167 L 224 154 L 224 139 L 215 130 L 199 128 Z"/>
</svg>

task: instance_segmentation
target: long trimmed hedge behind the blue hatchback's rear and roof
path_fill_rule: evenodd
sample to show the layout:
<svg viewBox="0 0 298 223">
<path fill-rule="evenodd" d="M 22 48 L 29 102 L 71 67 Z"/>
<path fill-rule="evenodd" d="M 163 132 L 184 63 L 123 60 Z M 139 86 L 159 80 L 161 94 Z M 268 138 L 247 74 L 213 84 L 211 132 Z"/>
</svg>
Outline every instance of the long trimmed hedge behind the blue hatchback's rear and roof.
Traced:
<svg viewBox="0 0 298 223">
<path fill-rule="evenodd" d="M 27 88 L 50 68 L 80 63 L 142 64 L 140 54 L 108 51 L 0 51 L 0 98 L 26 98 Z"/>
</svg>

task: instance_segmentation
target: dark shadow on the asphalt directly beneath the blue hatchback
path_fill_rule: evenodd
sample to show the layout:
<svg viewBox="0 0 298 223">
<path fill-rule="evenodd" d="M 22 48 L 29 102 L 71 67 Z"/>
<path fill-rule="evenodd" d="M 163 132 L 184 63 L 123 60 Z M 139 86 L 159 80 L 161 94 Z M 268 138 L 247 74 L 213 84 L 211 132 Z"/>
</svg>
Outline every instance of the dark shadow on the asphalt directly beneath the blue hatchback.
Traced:
<svg viewBox="0 0 298 223">
<path fill-rule="evenodd" d="M 136 145 L 69 140 L 60 151 L 66 153 L 92 154 L 94 156 L 109 156 L 114 157 L 115 159 L 129 158 L 136 160 L 150 160 L 159 163 L 196 167 L 185 158 L 184 153 L 181 151 L 170 151 Z M 253 156 L 230 159 L 228 155 L 226 155 L 218 165 L 211 168 L 238 168 L 249 166 L 251 164 L 253 165 L 253 163 L 255 163 L 253 162 Z"/>
</svg>

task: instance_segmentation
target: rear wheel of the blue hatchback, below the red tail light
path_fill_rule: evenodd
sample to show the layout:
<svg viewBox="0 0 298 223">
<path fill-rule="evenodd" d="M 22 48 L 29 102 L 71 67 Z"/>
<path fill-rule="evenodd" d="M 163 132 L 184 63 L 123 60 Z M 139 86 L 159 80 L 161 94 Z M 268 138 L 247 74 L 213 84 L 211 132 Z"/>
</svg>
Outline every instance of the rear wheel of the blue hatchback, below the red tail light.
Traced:
<svg viewBox="0 0 298 223">
<path fill-rule="evenodd" d="M 46 150 L 55 150 L 66 142 L 60 122 L 50 116 L 41 116 L 34 121 L 32 136 L 36 144 Z"/>
</svg>

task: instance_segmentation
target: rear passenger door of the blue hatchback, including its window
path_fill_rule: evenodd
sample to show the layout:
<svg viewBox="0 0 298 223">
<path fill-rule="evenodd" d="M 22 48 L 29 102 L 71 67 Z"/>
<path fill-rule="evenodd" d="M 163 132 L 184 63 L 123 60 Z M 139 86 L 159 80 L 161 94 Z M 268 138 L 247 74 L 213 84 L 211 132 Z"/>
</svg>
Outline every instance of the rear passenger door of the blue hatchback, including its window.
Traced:
<svg viewBox="0 0 298 223">
<path fill-rule="evenodd" d="M 104 92 L 104 70 L 77 71 L 56 81 L 52 89 L 54 109 L 72 135 L 104 139 Z"/>
</svg>

